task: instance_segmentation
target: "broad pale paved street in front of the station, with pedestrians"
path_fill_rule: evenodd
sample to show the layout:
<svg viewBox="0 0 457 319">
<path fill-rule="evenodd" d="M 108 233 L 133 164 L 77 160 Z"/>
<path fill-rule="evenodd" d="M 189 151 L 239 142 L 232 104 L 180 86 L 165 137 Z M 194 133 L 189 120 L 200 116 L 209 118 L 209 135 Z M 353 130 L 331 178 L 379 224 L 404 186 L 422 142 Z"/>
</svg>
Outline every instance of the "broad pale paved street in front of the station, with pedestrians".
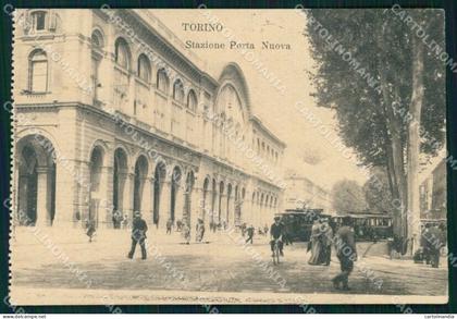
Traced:
<svg viewBox="0 0 457 319">
<path fill-rule="evenodd" d="M 271 263 L 267 237 L 255 237 L 251 248 L 246 249 L 234 242 L 238 233 L 210 234 L 208 244 L 190 245 L 183 244 L 178 233 L 150 233 L 149 258 L 141 260 L 137 247 L 135 259 L 129 260 L 129 233 L 125 230 L 103 231 L 88 243 L 82 231 L 63 235 L 46 229 L 34 235 L 27 229 L 17 229 L 12 242 L 13 289 L 342 293 L 330 281 L 338 272 L 335 257 L 330 267 L 309 266 L 305 243 L 286 246 L 281 265 L 269 265 L 272 275 L 252 258 L 258 253 L 261 260 Z M 51 248 L 45 246 L 44 236 L 51 240 Z M 67 263 L 59 256 L 67 256 Z M 376 283 L 381 285 L 376 287 Z M 369 256 L 357 262 L 350 285 L 351 295 L 445 295 L 447 270 Z"/>
</svg>

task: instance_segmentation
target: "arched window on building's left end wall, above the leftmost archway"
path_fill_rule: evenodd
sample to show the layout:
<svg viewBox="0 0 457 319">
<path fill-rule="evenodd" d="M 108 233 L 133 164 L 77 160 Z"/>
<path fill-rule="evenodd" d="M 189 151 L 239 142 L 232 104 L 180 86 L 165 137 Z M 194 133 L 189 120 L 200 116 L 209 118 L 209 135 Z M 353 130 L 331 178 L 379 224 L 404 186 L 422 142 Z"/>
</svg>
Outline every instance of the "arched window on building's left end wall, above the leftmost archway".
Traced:
<svg viewBox="0 0 457 319">
<path fill-rule="evenodd" d="M 33 93 L 48 90 L 48 58 L 44 50 L 35 50 L 29 56 L 28 89 Z"/>
</svg>

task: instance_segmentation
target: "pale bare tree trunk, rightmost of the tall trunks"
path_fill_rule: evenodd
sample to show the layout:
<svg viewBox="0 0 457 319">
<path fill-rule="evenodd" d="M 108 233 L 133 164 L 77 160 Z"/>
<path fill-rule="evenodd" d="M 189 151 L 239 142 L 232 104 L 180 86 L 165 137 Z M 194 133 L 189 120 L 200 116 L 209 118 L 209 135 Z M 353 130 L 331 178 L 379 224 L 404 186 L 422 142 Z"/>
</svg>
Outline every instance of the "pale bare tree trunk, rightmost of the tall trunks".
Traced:
<svg viewBox="0 0 457 319">
<path fill-rule="evenodd" d="M 423 102 L 423 42 L 412 36 L 412 93 L 409 113 L 412 120 L 408 124 L 408 238 L 411 253 L 419 247 L 420 240 L 420 203 L 419 203 L 419 127 Z"/>
</svg>

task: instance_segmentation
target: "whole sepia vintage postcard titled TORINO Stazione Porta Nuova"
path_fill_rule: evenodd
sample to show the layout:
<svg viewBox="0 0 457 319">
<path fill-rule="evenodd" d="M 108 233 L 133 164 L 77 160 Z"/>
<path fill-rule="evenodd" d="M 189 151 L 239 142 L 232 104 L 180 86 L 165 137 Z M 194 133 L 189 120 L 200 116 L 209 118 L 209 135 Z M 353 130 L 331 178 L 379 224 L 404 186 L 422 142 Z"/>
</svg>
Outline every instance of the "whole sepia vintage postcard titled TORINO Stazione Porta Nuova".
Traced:
<svg viewBox="0 0 457 319">
<path fill-rule="evenodd" d="M 444 11 L 10 14 L 11 305 L 447 303 Z"/>
</svg>

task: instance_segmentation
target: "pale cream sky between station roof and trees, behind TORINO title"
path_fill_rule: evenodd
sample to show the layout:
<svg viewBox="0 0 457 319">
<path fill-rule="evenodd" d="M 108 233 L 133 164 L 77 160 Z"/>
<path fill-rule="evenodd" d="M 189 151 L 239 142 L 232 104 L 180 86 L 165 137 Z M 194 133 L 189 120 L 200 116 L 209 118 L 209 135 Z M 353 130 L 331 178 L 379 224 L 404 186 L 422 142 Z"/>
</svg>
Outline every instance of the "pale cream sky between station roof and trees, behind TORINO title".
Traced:
<svg viewBox="0 0 457 319">
<path fill-rule="evenodd" d="M 329 191 L 334 183 L 343 179 L 363 184 L 366 174 L 363 168 L 357 165 L 355 154 L 350 149 L 338 150 L 330 142 L 338 138 L 333 111 L 317 107 L 310 95 L 313 86 L 309 72 L 312 73 L 316 65 L 304 35 L 304 15 L 295 10 L 151 10 L 150 13 L 183 42 L 225 42 L 228 46 L 231 39 L 226 35 L 231 34 L 232 40 L 254 44 L 255 49 L 250 50 L 252 56 L 244 56 L 239 50 L 228 49 L 192 51 L 202 60 L 205 69 L 214 78 L 219 77 L 228 62 L 236 62 L 242 68 L 251 97 L 252 113 L 287 144 L 285 170 L 292 169 L 298 175 L 307 176 Z M 208 17 L 217 19 L 225 32 L 190 32 L 188 26 L 187 30 L 184 28 L 183 23 L 209 23 Z M 261 48 L 262 41 L 288 44 L 291 50 L 264 50 Z M 261 61 L 268 72 L 281 81 L 285 94 L 281 94 L 261 75 L 251 62 L 251 57 Z M 312 113 L 322 121 L 330 132 L 330 138 L 316 130 L 297 110 L 298 102 L 299 109 L 305 108 L 307 113 Z"/>
</svg>

